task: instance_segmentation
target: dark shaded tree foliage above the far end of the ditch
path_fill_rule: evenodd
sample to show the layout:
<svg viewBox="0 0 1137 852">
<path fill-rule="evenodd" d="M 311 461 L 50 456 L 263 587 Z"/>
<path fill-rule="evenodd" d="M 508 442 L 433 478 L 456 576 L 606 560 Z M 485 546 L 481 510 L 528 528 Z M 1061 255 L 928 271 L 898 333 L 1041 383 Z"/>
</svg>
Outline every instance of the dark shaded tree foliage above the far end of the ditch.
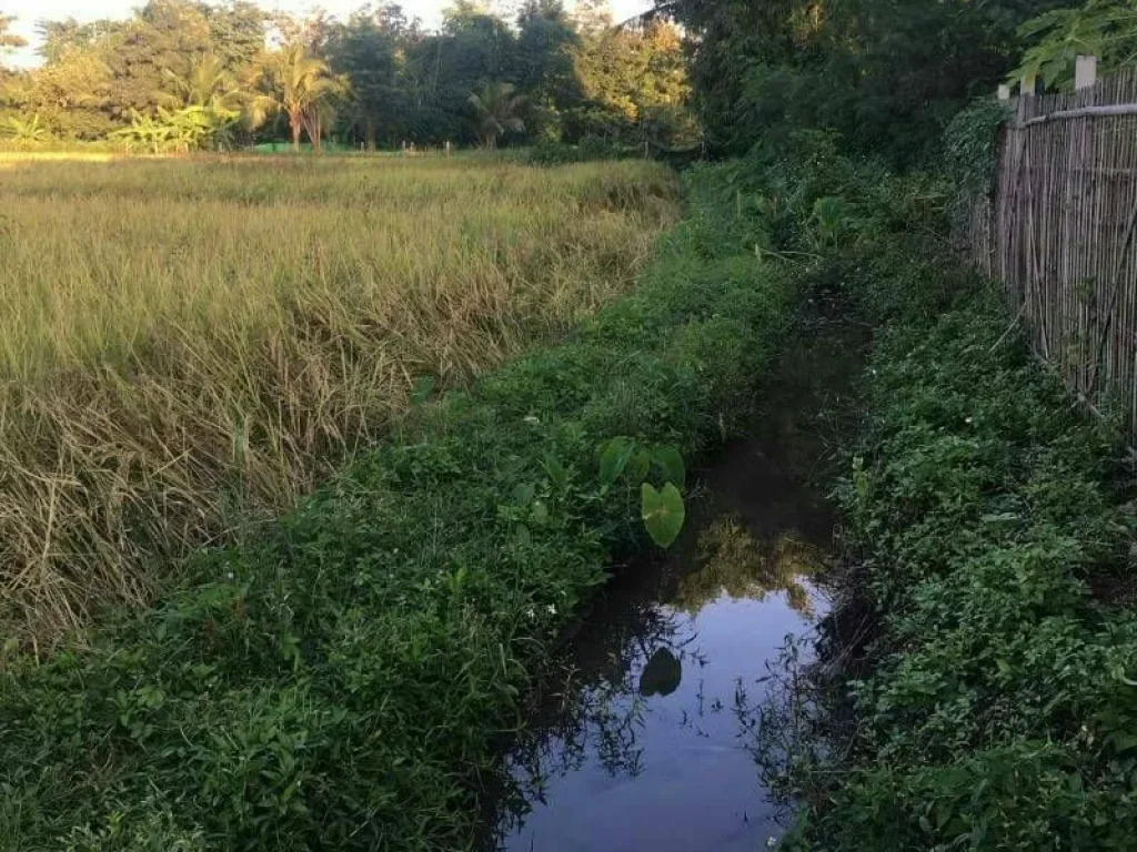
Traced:
<svg viewBox="0 0 1137 852">
<path fill-rule="evenodd" d="M 789 150 L 795 130 L 907 166 L 952 115 L 1019 61 L 1029 18 L 1059 0 L 659 0 L 695 35 L 691 80 L 708 144 Z"/>
</svg>

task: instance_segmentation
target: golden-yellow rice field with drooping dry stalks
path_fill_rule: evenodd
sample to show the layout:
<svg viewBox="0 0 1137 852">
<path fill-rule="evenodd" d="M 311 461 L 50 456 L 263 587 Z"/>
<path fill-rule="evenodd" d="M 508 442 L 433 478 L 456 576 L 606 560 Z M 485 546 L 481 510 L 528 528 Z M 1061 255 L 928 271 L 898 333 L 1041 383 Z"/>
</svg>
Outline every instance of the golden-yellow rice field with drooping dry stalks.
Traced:
<svg viewBox="0 0 1137 852">
<path fill-rule="evenodd" d="M 625 290 L 650 164 L 24 161 L 0 181 L 0 618 L 140 602 L 380 435 Z M 164 567 L 165 566 L 165 567 Z"/>
</svg>

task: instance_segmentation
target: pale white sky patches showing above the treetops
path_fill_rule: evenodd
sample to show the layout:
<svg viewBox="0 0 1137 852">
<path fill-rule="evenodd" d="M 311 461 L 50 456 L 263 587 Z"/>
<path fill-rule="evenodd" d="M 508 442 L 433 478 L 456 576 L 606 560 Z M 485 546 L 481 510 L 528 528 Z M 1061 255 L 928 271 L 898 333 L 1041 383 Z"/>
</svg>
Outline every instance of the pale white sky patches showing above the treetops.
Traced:
<svg viewBox="0 0 1137 852">
<path fill-rule="evenodd" d="M 144 0 L 0 0 L 0 11 L 15 15 L 13 27 L 30 42 L 27 48 L 5 58 L 9 65 L 28 67 L 36 64 L 35 56 L 35 22 L 41 18 L 58 19 L 75 17 L 78 20 L 96 20 L 98 18 L 124 18 L 135 6 Z M 257 0 L 269 11 L 282 11 L 302 15 L 315 7 L 326 9 L 332 15 L 346 16 L 364 5 L 365 0 Z M 645 11 L 652 6 L 652 0 L 608 0 L 612 6 L 612 17 L 625 20 L 632 15 Z M 381 3 L 375 3 L 376 6 Z M 408 15 L 422 18 L 426 26 L 435 26 L 441 20 L 441 11 L 450 5 L 450 0 L 401 0 L 400 5 Z"/>
</svg>

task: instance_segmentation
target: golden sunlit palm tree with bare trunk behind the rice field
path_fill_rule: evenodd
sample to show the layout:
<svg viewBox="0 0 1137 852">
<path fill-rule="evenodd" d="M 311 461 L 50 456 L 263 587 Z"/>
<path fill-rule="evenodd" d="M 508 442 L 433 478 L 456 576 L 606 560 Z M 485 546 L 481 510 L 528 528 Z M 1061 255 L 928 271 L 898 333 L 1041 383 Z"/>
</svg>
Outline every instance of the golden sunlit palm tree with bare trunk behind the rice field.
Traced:
<svg viewBox="0 0 1137 852">
<path fill-rule="evenodd" d="M 273 92 L 272 108 L 288 116 L 296 150 L 300 150 L 304 130 L 319 150 L 322 125 L 329 118 L 331 101 L 348 92 L 347 81 L 333 75 L 323 59 L 308 55 L 302 44 L 289 44 L 269 53 L 264 76 Z"/>
</svg>

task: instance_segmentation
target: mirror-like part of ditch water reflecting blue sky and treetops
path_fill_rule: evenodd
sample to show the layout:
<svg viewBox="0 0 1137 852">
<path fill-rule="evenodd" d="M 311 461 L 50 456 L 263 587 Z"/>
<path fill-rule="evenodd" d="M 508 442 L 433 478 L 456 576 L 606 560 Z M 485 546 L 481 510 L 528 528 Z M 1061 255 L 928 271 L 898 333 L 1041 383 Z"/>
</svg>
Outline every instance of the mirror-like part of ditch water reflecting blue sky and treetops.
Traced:
<svg viewBox="0 0 1137 852">
<path fill-rule="evenodd" d="M 727 515 L 617 580 L 509 754 L 498 847 L 729 852 L 779 834 L 739 710 L 822 608 L 822 566 L 797 533 Z"/>
</svg>

